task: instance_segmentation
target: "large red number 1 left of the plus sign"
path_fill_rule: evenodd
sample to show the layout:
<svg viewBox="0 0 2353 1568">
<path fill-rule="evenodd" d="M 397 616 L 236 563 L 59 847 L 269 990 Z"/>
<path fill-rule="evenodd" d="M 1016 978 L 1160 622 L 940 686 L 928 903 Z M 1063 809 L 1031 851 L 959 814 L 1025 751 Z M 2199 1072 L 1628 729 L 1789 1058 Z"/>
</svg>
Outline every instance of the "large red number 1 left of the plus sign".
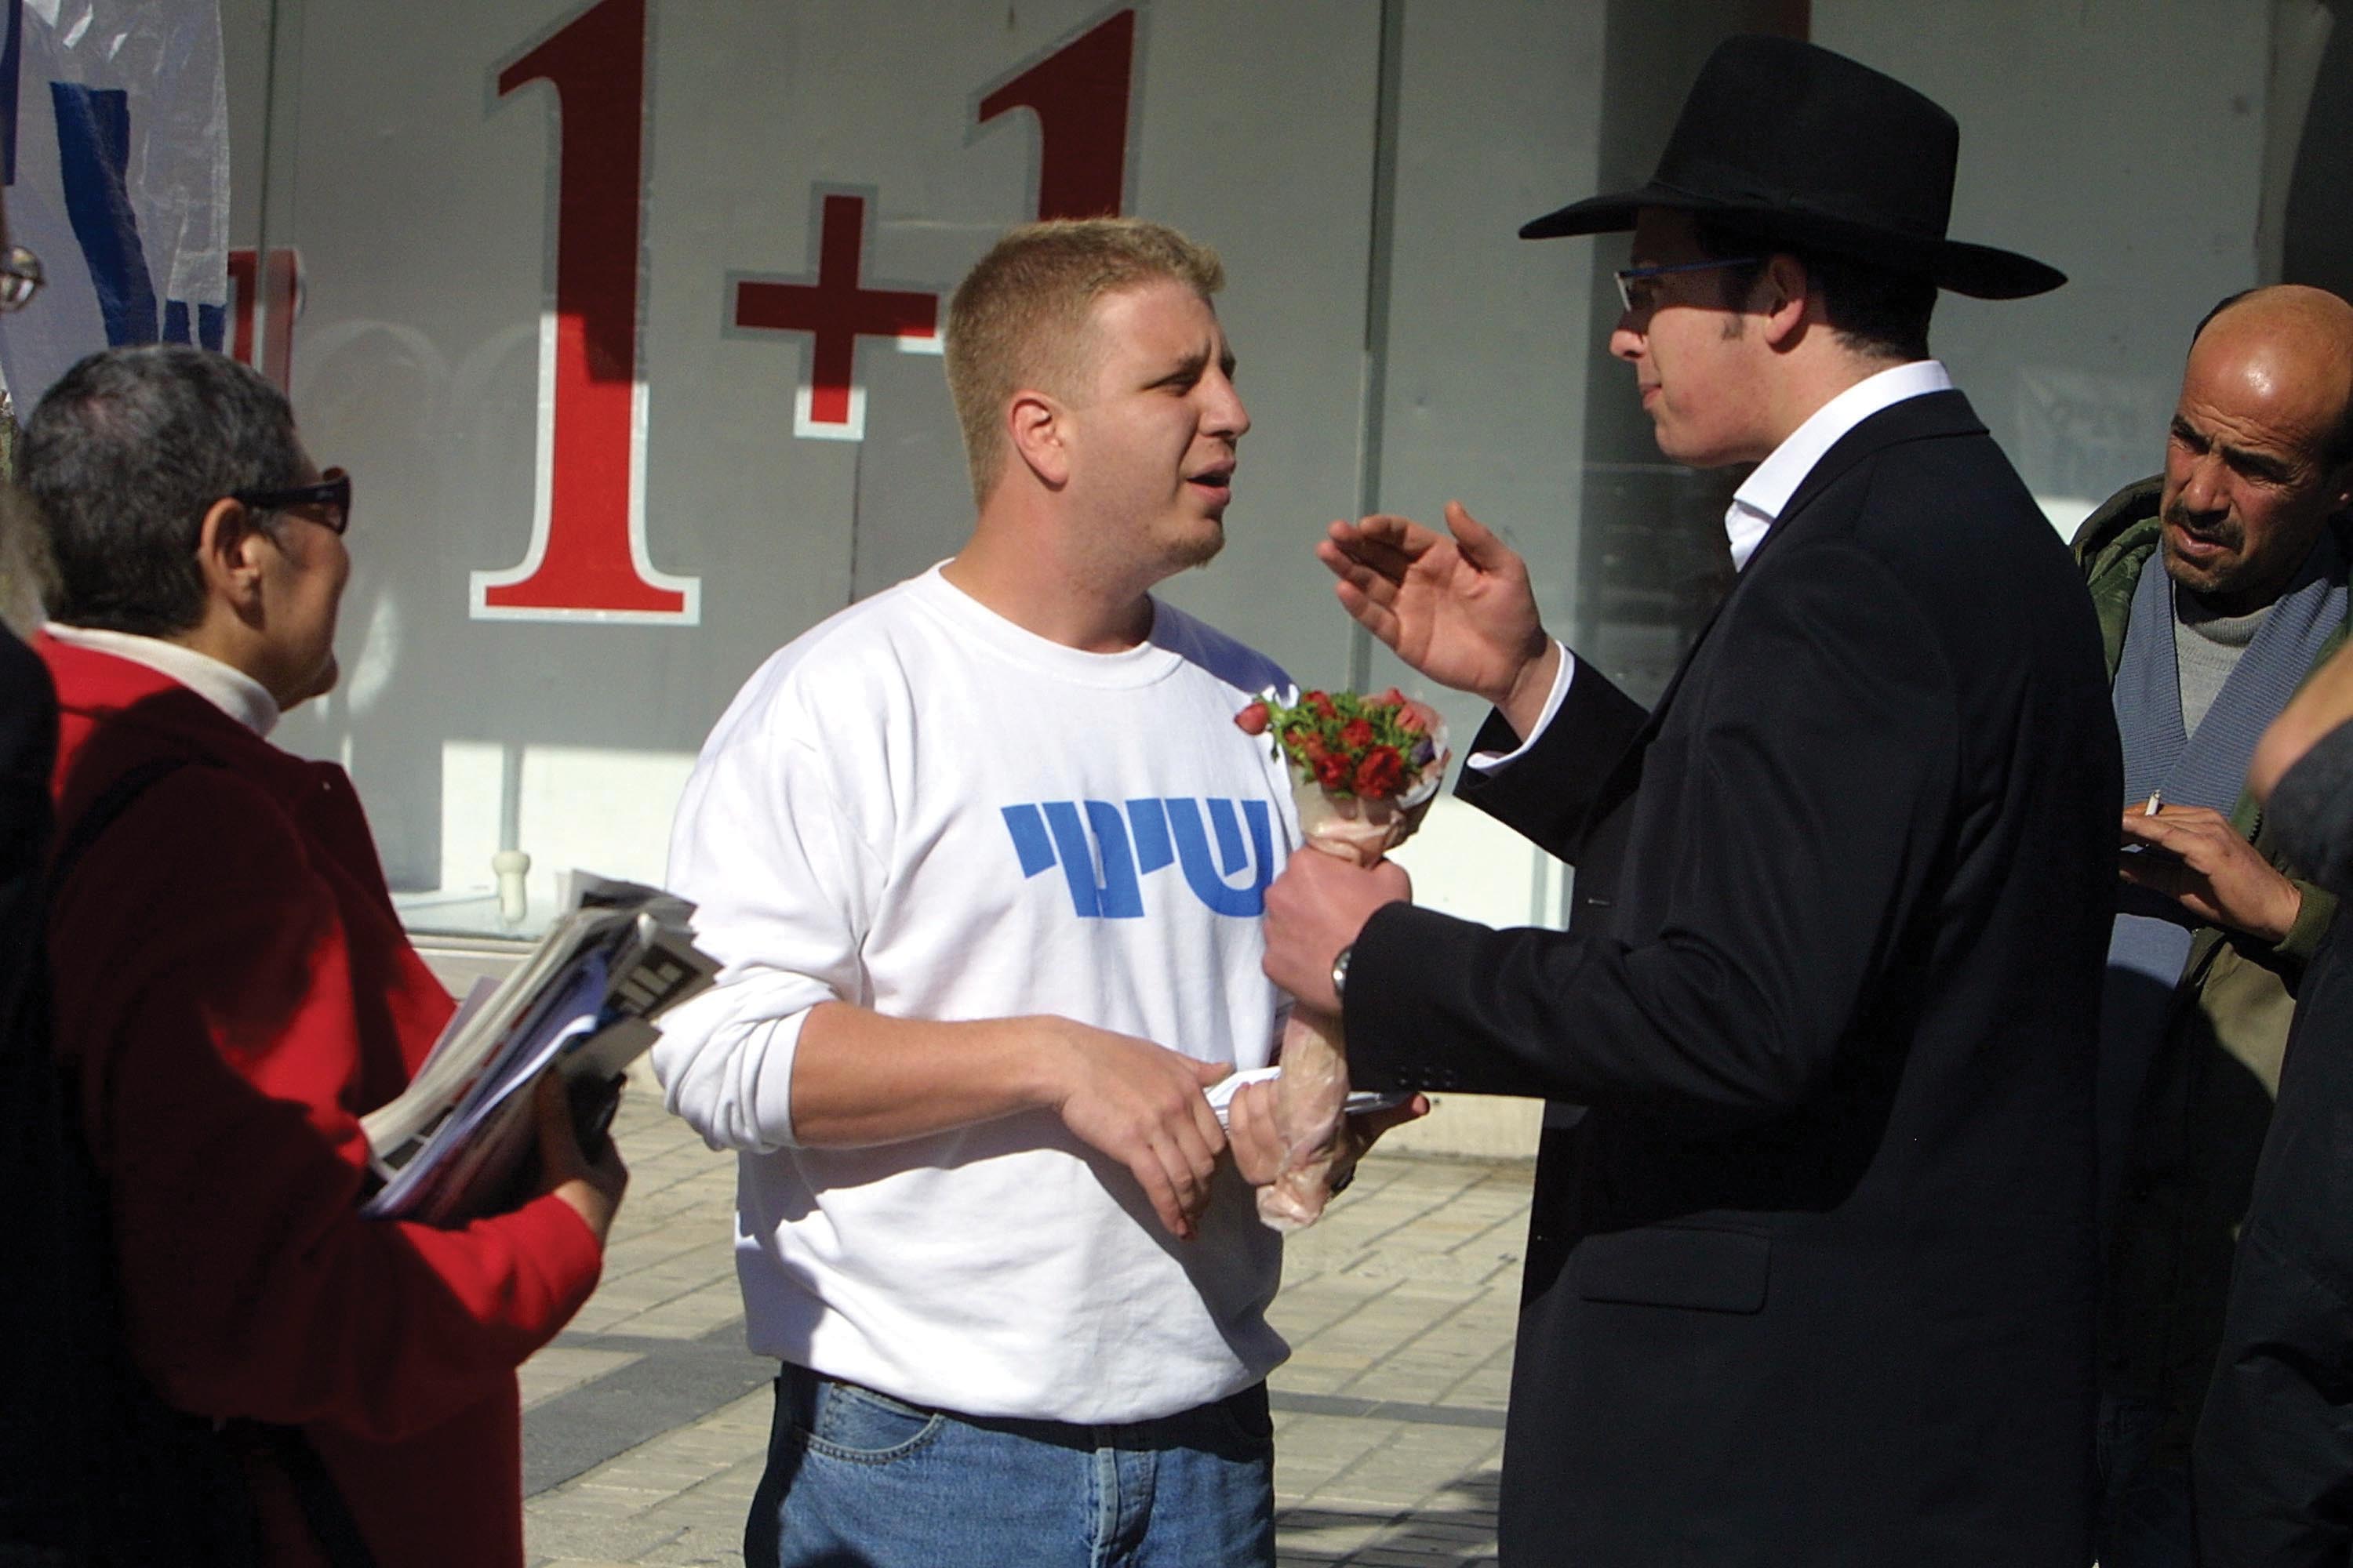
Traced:
<svg viewBox="0 0 2353 1568">
<path fill-rule="evenodd" d="M 701 583 L 645 548 L 638 270 L 645 188 L 645 0 L 598 0 L 499 73 L 555 89 L 555 303 L 539 339 L 532 548 L 473 574 L 473 614 L 508 621 L 701 618 Z"/>
</svg>

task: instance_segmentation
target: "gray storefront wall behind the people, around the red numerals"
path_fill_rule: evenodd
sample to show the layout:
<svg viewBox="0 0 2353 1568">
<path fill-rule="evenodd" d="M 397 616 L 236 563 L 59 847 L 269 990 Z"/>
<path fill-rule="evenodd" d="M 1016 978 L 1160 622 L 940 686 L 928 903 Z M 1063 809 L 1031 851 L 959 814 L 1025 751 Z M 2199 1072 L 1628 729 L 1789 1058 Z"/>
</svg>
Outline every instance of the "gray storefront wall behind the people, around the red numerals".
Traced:
<svg viewBox="0 0 2353 1568">
<path fill-rule="evenodd" d="M 478 571 L 532 541 L 551 292 L 553 94 L 499 63 L 581 0 L 224 0 L 235 223 L 299 244 L 294 397 L 358 475 L 346 689 L 282 736 L 348 759 L 398 889 L 487 889 L 501 837 L 548 872 L 659 875 L 701 736 L 774 646 L 951 552 L 969 524 L 939 360 L 868 341 L 864 442 L 800 440 L 805 346 L 727 327 L 732 270 L 812 268 L 812 188 L 878 193 L 868 280 L 946 292 L 1028 216 L 1026 118 L 974 94 L 1101 0 L 654 5 L 640 371 L 645 548 L 701 583 L 694 625 L 482 621 Z M 2181 343 L 2261 273 L 2266 179 L 2297 172 L 2287 254 L 2344 270 L 2320 71 L 2273 101 L 2271 7 L 2092 0 L 1144 0 L 1129 209 L 1228 261 L 1221 315 L 1257 430 L 1226 555 L 1169 597 L 1313 684 L 1398 679 L 1308 555 L 1377 505 L 1447 498 L 1529 559 L 1555 630 L 1638 693 L 1722 581 L 1727 475 L 1657 458 L 1607 362 L 1621 240 L 1525 244 L 1527 216 L 1649 172 L 1713 40 L 1809 26 L 1962 122 L 1953 228 L 2066 268 L 2042 301 L 1946 299 L 1937 348 L 2064 522 L 2158 463 Z M 2337 40 L 2339 52 L 2344 40 Z M 2311 73 L 2306 73 L 2311 75 Z M 2341 75 L 2341 73 L 2339 73 Z M 2297 146 L 2292 141 L 2292 146 Z M 1438 696 L 1461 741 L 1475 705 Z M 1431 820 L 1426 896 L 1544 919 L 1539 856 Z M 485 924 L 485 905 L 419 910 Z"/>
</svg>

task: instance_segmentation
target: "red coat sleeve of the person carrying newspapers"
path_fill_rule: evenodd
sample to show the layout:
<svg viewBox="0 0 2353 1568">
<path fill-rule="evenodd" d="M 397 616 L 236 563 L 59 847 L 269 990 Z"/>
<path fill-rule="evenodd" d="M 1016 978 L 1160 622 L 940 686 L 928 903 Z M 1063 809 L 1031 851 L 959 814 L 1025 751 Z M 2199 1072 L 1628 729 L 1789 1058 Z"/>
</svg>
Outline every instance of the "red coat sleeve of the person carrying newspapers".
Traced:
<svg viewBox="0 0 2353 1568">
<path fill-rule="evenodd" d="M 600 1251 L 553 1194 L 360 1218 L 360 1041 L 391 1020 L 353 940 L 384 938 L 275 802 L 191 766 L 92 846 L 52 954 L 139 1366 L 188 1410 L 393 1441 L 511 1387 Z"/>
</svg>

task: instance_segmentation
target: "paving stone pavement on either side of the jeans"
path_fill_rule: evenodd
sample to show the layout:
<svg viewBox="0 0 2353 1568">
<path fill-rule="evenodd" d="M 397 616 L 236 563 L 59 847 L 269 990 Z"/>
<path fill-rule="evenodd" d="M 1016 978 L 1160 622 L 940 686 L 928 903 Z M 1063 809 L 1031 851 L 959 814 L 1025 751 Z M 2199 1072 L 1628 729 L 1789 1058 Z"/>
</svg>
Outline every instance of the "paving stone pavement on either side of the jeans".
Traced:
<svg viewBox="0 0 2353 1568">
<path fill-rule="evenodd" d="M 739 1566 L 774 1363 L 744 1349 L 734 1157 L 652 1093 L 614 1124 L 605 1281 L 522 1368 L 534 1568 Z M 1282 1568 L 1494 1563 L 1532 1168 L 1374 1154 L 1285 1246 L 1271 1380 Z"/>
</svg>

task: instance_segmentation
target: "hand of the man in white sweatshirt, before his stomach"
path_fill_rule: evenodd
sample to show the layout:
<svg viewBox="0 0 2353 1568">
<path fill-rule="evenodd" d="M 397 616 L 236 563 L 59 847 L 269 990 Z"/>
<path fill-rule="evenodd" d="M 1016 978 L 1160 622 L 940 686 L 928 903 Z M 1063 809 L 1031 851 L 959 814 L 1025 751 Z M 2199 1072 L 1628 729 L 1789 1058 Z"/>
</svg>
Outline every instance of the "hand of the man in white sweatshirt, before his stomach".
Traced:
<svg viewBox="0 0 2353 1568">
<path fill-rule="evenodd" d="M 1144 1185 L 1169 1234 L 1191 1239 L 1209 1206 L 1209 1175 L 1226 1152 L 1202 1088 L 1231 1072 L 1068 1018 L 1042 1020 L 1061 1056 L 1054 1112 L 1087 1147 L 1118 1159 Z"/>
</svg>

